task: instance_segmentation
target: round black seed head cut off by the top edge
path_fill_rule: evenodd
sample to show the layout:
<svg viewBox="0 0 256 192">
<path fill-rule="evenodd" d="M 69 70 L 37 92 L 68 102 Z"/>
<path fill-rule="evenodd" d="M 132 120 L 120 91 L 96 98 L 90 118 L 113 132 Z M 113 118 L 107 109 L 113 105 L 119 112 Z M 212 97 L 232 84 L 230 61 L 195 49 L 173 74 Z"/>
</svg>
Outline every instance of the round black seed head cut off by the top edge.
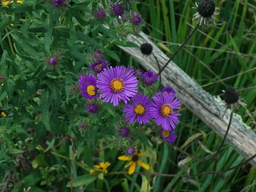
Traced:
<svg viewBox="0 0 256 192">
<path fill-rule="evenodd" d="M 202 17 L 211 17 L 215 12 L 214 0 L 201 0 L 198 4 L 198 13 Z"/>
</svg>

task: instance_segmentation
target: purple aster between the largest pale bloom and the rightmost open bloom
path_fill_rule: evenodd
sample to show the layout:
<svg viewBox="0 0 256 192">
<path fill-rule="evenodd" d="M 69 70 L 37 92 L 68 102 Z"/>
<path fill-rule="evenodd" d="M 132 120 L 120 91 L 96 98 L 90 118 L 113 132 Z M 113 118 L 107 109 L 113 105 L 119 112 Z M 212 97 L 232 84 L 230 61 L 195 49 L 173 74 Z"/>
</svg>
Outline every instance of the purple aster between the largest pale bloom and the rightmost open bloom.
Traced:
<svg viewBox="0 0 256 192">
<path fill-rule="evenodd" d="M 125 106 L 125 120 L 129 123 L 132 123 L 134 122 L 134 119 L 137 117 L 138 123 L 148 123 L 148 119 L 151 119 L 151 105 L 152 102 L 148 100 L 148 96 L 143 95 L 142 93 L 137 93 L 131 99 L 131 105 Z"/>
</svg>

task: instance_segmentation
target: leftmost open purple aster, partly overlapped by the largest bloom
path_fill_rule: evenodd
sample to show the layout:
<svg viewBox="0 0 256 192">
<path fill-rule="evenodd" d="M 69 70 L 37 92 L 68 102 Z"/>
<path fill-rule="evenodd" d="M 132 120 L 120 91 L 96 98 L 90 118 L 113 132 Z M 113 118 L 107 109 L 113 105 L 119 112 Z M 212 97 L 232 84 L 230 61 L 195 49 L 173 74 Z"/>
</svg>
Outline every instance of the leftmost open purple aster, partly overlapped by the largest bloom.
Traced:
<svg viewBox="0 0 256 192">
<path fill-rule="evenodd" d="M 81 76 L 78 80 L 82 96 L 85 99 L 99 98 L 97 95 L 96 78 L 92 74 Z"/>
</svg>

